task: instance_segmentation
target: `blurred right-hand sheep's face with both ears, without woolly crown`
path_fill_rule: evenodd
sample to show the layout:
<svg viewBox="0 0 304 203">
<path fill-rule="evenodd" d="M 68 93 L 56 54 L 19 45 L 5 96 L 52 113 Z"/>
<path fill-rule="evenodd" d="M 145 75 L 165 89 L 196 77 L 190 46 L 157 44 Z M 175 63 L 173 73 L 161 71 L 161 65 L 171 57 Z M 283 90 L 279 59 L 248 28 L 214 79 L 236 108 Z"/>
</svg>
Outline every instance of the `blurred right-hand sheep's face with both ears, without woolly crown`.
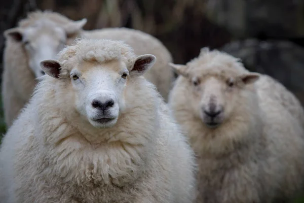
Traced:
<svg viewBox="0 0 304 203">
<path fill-rule="evenodd" d="M 247 85 L 255 82 L 259 75 L 255 73 L 238 73 L 225 67 L 188 67 L 171 64 L 184 80 L 182 84 L 189 89 L 189 104 L 194 114 L 202 122 L 216 128 L 229 119 L 239 108 L 239 100 L 246 101 Z"/>
</svg>

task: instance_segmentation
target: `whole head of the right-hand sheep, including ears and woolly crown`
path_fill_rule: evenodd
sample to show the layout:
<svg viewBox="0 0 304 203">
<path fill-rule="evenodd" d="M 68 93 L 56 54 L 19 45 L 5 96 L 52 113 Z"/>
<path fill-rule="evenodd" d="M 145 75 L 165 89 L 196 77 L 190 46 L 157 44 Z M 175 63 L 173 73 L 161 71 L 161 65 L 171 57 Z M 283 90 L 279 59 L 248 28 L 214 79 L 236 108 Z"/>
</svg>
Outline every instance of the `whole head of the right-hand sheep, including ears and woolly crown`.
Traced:
<svg viewBox="0 0 304 203">
<path fill-rule="evenodd" d="M 204 53 L 186 65 L 170 64 L 186 86 L 193 113 L 210 128 L 228 120 L 248 105 L 259 74 L 246 71 L 234 57 L 218 51 Z M 191 97 L 191 98 L 190 98 Z M 248 101 L 249 102 L 249 101 Z M 241 107 L 243 106 L 243 107 Z"/>
</svg>

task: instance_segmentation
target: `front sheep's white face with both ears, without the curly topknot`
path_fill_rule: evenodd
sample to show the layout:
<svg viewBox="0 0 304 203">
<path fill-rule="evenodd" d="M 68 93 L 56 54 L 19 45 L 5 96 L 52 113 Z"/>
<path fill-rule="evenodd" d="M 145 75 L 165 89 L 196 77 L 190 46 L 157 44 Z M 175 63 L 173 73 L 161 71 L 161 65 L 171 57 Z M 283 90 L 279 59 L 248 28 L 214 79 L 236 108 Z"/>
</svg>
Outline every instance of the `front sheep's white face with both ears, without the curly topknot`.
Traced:
<svg viewBox="0 0 304 203">
<path fill-rule="evenodd" d="M 105 62 L 82 61 L 73 65 L 71 70 L 61 66 L 59 61 L 44 60 L 43 70 L 50 76 L 67 80 L 73 92 L 75 109 L 97 128 L 113 127 L 120 112 L 124 110 L 128 80 L 141 76 L 156 61 L 153 55 L 141 55 L 135 59 L 132 69 L 128 70 L 121 60 Z M 61 76 L 66 72 L 69 78 Z"/>
</svg>

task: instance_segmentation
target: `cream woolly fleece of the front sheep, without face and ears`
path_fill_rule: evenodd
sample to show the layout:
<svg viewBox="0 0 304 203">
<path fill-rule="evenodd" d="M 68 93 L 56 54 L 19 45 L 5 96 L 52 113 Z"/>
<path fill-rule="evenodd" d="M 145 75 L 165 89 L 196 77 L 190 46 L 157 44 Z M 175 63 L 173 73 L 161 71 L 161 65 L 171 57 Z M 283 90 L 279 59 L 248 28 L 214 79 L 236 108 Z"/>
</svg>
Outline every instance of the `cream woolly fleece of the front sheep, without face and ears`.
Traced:
<svg viewBox="0 0 304 203">
<path fill-rule="evenodd" d="M 117 49 L 105 49 L 104 58 L 130 51 L 127 62 L 117 58 L 126 63 L 135 59 L 121 42 L 76 43 L 61 52 L 60 62 L 88 59 L 89 49 L 74 48 L 99 50 L 101 44 Z M 62 71 L 69 67 L 63 65 Z M 129 80 L 126 110 L 115 127 L 99 129 L 75 111 L 69 81 L 45 76 L 5 135 L 0 149 L 2 201 L 193 202 L 193 151 L 153 84 L 143 77 Z"/>
</svg>

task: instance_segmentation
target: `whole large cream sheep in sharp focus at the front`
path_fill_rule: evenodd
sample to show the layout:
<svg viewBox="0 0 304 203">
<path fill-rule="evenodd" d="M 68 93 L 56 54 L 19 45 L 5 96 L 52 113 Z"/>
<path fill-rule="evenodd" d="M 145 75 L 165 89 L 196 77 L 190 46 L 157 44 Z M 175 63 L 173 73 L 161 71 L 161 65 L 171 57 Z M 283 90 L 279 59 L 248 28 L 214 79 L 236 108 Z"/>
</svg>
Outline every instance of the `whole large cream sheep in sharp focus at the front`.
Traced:
<svg viewBox="0 0 304 203">
<path fill-rule="evenodd" d="M 0 149 L 1 202 L 193 202 L 196 163 L 123 41 L 79 39 L 46 75 Z"/>
</svg>

